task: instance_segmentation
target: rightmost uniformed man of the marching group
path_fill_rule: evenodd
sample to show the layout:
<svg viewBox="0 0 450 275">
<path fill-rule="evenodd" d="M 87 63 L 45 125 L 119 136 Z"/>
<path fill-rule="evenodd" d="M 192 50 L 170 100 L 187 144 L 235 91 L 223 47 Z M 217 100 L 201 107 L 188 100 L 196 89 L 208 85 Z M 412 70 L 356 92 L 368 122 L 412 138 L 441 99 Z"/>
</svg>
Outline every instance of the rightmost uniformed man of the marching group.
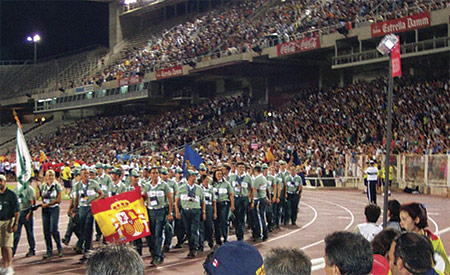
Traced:
<svg viewBox="0 0 450 275">
<path fill-rule="evenodd" d="M 292 225 L 296 225 L 297 213 L 298 213 L 298 203 L 300 202 L 300 197 L 302 195 L 303 183 L 302 178 L 297 175 L 295 166 L 290 167 L 290 175 L 286 176 L 286 186 L 287 186 L 287 211 L 285 223 L 291 220 Z"/>
</svg>

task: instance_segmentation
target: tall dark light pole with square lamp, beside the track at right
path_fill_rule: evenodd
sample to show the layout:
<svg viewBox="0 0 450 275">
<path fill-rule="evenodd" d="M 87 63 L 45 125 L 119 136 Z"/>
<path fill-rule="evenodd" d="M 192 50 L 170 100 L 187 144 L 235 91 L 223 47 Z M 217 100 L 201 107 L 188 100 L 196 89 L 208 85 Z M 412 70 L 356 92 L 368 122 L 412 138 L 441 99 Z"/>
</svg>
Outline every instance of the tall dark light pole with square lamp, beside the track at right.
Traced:
<svg viewBox="0 0 450 275">
<path fill-rule="evenodd" d="M 394 89 L 394 77 L 392 74 L 392 54 L 391 51 L 398 45 L 399 39 L 394 34 L 386 35 L 377 47 L 377 50 L 382 54 L 389 54 L 389 82 L 388 82 L 388 107 L 387 107 L 387 140 L 386 140 L 386 159 L 385 159 L 385 176 L 384 176 L 384 206 L 383 206 L 383 227 L 387 225 L 387 208 L 388 208 L 388 196 L 389 196 L 389 167 L 390 167 L 390 151 L 392 140 L 392 91 Z M 400 55 L 398 56 L 400 58 Z M 400 61 L 398 61 L 400 65 Z M 395 68 L 397 70 L 397 68 Z"/>
</svg>

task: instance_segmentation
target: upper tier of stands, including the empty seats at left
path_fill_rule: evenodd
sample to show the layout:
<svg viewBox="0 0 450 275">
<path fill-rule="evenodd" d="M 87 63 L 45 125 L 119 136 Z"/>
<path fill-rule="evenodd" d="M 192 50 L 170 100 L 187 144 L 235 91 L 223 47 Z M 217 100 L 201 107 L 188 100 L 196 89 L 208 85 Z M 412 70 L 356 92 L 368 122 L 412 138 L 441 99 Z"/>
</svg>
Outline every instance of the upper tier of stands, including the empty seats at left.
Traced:
<svg viewBox="0 0 450 275">
<path fill-rule="evenodd" d="M 266 47 L 274 34 L 283 42 L 334 32 L 349 22 L 357 25 L 450 6 L 450 0 L 288 0 L 279 5 L 275 3 L 278 1 L 229 1 L 168 29 L 154 27 L 127 42 L 120 58 L 112 62 L 103 62 L 104 51 L 95 51 L 41 62 L 36 67 L 14 68 L 8 75 L 20 72 L 20 77 L 0 79 L 0 91 L 6 91 L 6 97 L 14 97 L 41 93 L 49 88 L 101 84 L 122 76 L 185 65 L 217 52 L 233 54 L 252 51 L 256 45 Z"/>
</svg>

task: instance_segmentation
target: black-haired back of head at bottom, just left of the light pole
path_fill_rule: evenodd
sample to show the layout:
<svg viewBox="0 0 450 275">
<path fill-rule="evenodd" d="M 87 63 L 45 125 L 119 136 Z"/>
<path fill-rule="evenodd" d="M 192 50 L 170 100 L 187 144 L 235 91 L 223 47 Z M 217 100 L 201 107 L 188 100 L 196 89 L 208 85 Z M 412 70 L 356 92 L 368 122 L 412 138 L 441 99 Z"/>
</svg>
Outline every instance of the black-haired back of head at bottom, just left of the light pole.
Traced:
<svg viewBox="0 0 450 275">
<path fill-rule="evenodd" d="M 341 274 L 363 275 L 372 270 L 372 246 L 361 234 L 338 231 L 325 237 L 325 260 Z"/>
</svg>

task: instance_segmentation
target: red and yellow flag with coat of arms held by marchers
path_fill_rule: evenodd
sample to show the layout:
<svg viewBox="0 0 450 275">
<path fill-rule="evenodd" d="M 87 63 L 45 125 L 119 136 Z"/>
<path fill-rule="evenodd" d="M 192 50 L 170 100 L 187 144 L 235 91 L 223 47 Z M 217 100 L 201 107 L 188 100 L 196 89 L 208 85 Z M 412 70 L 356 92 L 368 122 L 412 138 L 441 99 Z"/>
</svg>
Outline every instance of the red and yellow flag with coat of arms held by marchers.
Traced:
<svg viewBox="0 0 450 275">
<path fill-rule="evenodd" d="M 128 243 L 150 235 L 148 212 L 140 189 L 95 201 L 91 208 L 109 243 Z"/>
</svg>

